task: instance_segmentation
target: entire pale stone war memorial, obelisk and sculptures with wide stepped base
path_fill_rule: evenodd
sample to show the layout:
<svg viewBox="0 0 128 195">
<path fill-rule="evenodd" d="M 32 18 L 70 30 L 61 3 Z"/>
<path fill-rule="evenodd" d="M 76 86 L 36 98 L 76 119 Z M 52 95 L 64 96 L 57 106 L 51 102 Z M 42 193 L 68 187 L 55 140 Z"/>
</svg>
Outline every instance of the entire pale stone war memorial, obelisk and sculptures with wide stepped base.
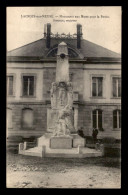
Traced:
<svg viewBox="0 0 128 195">
<path fill-rule="evenodd" d="M 74 128 L 73 122 L 73 85 L 69 81 L 68 48 L 64 42 L 58 45 L 56 79 L 51 84 L 50 97 L 47 132 L 37 139 L 33 148 L 32 143 L 20 143 L 19 154 L 64 158 L 101 156 L 101 152 L 87 149 L 86 140 L 74 133 L 77 127 Z"/>
</svg>

